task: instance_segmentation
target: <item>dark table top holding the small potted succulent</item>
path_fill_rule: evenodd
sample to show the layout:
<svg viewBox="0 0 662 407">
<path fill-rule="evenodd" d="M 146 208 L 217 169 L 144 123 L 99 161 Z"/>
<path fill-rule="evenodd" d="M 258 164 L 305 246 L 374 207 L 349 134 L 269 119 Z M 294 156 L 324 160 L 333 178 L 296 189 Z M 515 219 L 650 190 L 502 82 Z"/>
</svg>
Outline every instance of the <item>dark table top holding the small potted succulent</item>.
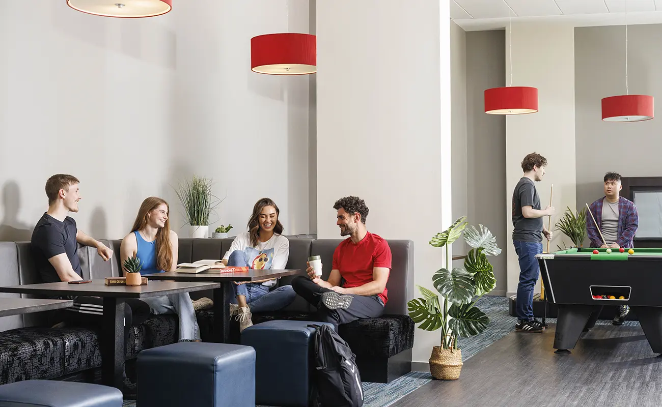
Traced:
<svg viewBox="0 0 662 407">
<path fill-rule="evenodd" d="M 115 298 L 148 298 L 151 296 L 162 296 L 169 294 L 189 293 L 191 291 L 203 291 L 217 289 L 218 283 L 183 282 L 183 281 L 150 281 L 147 285 L 105 285 L 105 281 L 93 280 L 85 284 L 42 283 L 15 285 L 12 287 L 0 287 L 0 293 L 17 293 L 33 295 L 56 295 L 56 296 L 107 296 Z"/>
</svg>

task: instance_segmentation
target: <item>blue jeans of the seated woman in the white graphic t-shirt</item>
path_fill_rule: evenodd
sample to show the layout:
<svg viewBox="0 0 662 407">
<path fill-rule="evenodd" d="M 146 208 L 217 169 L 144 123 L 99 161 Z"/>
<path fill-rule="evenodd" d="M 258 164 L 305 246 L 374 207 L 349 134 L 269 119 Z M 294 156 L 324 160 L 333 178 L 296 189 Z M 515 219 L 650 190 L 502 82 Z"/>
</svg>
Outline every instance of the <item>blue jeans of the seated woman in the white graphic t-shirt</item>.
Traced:
<svg viewBox="0 0 662 407">
<path fill-rule="evenodd" d="M 235 250 L 230 253 L 228 266 L 248 267 L 244 252 Z M 291 285 L 283 285 L 273 291 L 262 283 L 244 283 L 240 285 L 232 284 L 235 298 L 233 304 L 237 303 L 236 296 L 246 296 L 246 304 L 250 304 L 251 312 L 277 311 L 285 308 L 297 298 Z"/>
</svg>

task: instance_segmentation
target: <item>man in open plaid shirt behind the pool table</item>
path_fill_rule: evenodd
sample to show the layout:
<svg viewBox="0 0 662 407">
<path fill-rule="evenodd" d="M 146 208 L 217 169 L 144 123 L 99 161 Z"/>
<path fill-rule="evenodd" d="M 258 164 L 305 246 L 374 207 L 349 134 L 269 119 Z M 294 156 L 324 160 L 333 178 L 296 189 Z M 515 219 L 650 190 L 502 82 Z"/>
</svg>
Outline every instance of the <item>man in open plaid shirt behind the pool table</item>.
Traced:
<svg viewBox="0 0 662 407">
<path fill-rule="evenodd" d="M 622 189 L 621 176 L 618 173 L 604 175 L 604 197 L 589 206 L 589 210 L 598 222 L 600 232 L 591 214 L 586 214 L 587 234 L 591 240 L 591 248 L 634 248 L 634 234 L 639 226 L 639 214 L 634 202 L 620 196 Z M 612 321 L 614 325 L 622 325 L 630 312 L 630 307 L 618 307 Z"/>
</svg>

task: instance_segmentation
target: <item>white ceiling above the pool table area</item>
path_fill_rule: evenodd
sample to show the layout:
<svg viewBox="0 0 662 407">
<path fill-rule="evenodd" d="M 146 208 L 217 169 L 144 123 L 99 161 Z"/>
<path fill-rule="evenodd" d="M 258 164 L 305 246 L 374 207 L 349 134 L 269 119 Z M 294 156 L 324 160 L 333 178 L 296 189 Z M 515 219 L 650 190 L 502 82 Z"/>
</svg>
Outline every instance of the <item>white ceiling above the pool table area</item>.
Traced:
<svg viewBox="0 0 662 407">
<path fill-rule="evenodd" d="M 625 24 L 626 0 L 450 0 L 451 19 L 466 31 L 492 30 L 516 21 L 574 26 Z M 628 24 L 662 23 L 662 0 L 627 0 Z"/>
</svg>

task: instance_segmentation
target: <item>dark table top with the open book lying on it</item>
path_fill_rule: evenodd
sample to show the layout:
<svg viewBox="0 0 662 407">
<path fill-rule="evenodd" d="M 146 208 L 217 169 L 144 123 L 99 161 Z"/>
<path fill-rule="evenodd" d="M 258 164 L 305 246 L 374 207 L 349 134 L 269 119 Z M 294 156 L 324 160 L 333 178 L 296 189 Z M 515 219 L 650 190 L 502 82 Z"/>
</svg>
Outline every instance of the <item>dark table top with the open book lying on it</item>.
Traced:
<svg viewBox="0 0 662 407">
<path fill-rule="evenodd" d="M 250 269 L 236 273 L 222 273 L 221 270 L 205 270 L 201 273 L 177 273 L 177 271 L 166 271 L 164 273 L 143 274 L 150 280 L 173 280 L 173 281 L 214 281 L 226 283 L 227 281 L 259 281 L 264 279 L 275 279 L 287 275 L 302 273 L 301 269 L 270 270 Z M 152 283 L 150 283 L 152 284 Z"/>
</svg>

